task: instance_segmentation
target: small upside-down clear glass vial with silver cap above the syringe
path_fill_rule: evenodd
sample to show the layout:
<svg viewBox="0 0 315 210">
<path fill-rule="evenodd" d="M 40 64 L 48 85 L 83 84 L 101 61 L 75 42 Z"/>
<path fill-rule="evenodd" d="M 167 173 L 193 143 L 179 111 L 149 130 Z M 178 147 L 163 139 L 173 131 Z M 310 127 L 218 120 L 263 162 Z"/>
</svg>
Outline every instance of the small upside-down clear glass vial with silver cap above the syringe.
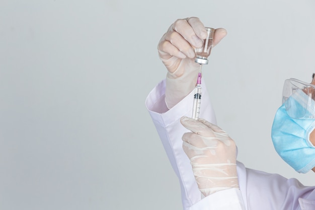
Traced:
<svg viewBox="0 0 315 210">
<path fill-rule="evenodd" d="M 203 40 L 201 48 L 195 48 L 195 62 L 199 64 L 208 64 L 207 57 L 210 55 L 213 41 L 214 28 L 205 27 L 207 30 L 207 38 Z"/>
</svg>

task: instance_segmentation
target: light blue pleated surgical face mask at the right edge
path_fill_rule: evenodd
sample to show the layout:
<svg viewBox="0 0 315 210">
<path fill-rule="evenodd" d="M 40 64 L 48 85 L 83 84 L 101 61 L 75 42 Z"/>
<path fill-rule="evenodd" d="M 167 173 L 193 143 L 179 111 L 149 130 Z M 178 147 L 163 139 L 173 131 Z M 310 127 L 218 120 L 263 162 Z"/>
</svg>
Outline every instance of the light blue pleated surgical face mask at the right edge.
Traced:
<svg viewBox="0 0 315 210">
<path fill-rule="evenodd" d="M 271 137 L 273 145 L 280 157 L 299 173 L 307 173 L 315 167 L 315 147 L 309 141 L 309 134 L 315 128 L 315 119 L 297 119 L 288 115 L 286 105 L 294 107 L 302 113 L 313 110 L 303 104 L 307 95 L 302 91 L 292 94 L 275 115 Z M 297 100 L 298 99 L 298 100 Z M 312 100 L 314 104 L 314 101 Z M 305 109 L 306 108 L 306 109 Z"/>
</svg>

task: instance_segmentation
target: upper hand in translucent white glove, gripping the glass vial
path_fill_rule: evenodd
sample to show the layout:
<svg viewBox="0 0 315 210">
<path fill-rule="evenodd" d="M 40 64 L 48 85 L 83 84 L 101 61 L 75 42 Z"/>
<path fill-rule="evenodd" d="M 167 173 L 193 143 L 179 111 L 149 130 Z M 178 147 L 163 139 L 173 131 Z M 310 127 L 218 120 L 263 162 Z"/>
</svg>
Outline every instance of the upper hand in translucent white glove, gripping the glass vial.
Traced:
<svg viewBox="0 0 315 210">
<path fill-rule="evenodd" d="M 213 46 L 225 35 L 225 29 L 216 29 Z M 195 48 L 201 47 L 206 37 L 204 25 L 195 17 L 178 19 L 162 36 L 157 50 L 168 69 L 165 101 L 169 109 L 195 88 L 199 72 L 199 64 L 194 59 Z"/>
</svg>

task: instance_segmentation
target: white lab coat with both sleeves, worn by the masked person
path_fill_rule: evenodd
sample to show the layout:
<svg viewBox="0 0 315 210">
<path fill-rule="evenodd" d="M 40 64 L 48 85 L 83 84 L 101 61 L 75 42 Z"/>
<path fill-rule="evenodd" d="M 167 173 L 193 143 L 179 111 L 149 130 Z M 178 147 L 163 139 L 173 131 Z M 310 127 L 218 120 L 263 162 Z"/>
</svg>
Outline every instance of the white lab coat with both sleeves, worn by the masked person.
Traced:
<svg viewBox="0 0 315 210">
<path fill-rule="evenodd" d="M 213 108 L 202 82 L 200 118 L 216 123 Z M 315 187 L 303 186 L 296 179 L 245 168 L 238 162 L 239 189 L 226 189 L 201 198 L 190 160 L 182 149 L 182 135 L 188 130 L 180 124 L 182 116 L 191 117 L 193 92 L 168 110 L 165 104 L 165 81 L 147 96 L 145 105 L 177 174 L 185 210 L 315 210 Z M 315 175 L 314 175 L 315 176 Z"/>
</svg>

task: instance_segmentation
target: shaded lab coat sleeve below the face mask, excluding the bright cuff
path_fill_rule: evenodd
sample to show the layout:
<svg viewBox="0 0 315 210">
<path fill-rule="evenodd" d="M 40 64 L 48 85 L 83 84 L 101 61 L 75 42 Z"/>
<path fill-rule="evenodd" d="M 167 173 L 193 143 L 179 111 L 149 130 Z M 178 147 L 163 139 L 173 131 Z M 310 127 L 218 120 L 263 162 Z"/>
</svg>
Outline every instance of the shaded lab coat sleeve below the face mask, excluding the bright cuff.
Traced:
<svg viewBox="0 0 315 210">
<path fill-rule="evenodd" d="M 241 191 L 247 209 L 314 210 L 315 187 L 297 179 L 245 168 L 239 164 Z M 239 173 L 240 172 L 240 173 Z"/>
</svg>

